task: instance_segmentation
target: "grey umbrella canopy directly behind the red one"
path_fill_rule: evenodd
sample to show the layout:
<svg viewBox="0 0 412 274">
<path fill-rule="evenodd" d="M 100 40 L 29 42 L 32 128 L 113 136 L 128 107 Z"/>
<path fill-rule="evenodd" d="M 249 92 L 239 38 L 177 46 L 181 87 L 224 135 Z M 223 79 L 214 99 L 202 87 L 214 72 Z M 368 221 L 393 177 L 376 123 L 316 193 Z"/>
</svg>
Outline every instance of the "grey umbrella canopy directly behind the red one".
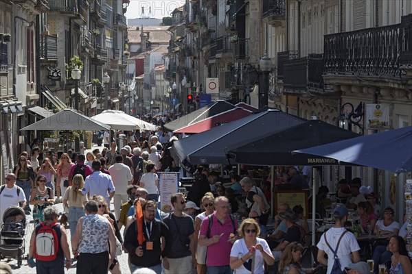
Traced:
<svg viewBox="0 0 412 274">
<path fill-rule="evenodd" d="M 209 105 L 205 105 L 203 108 L 199 108 L 194 112 L 190 112 L 185 116 L 181 116 L 179 119 L 165 124 L 164 127 L 165 129 L 168 129 L 168 131 L 174 132 L 176 129 L 181 129 L 186 125 L 192 125 L 198 121 L 202 121 L 208 117 L 215 116 L 216 114 L 231 110 L 233 108 L 236 108 L 236 106 L 228 103 L 227 101 L 219 100 L 210 103 Z"/>
</svg>

